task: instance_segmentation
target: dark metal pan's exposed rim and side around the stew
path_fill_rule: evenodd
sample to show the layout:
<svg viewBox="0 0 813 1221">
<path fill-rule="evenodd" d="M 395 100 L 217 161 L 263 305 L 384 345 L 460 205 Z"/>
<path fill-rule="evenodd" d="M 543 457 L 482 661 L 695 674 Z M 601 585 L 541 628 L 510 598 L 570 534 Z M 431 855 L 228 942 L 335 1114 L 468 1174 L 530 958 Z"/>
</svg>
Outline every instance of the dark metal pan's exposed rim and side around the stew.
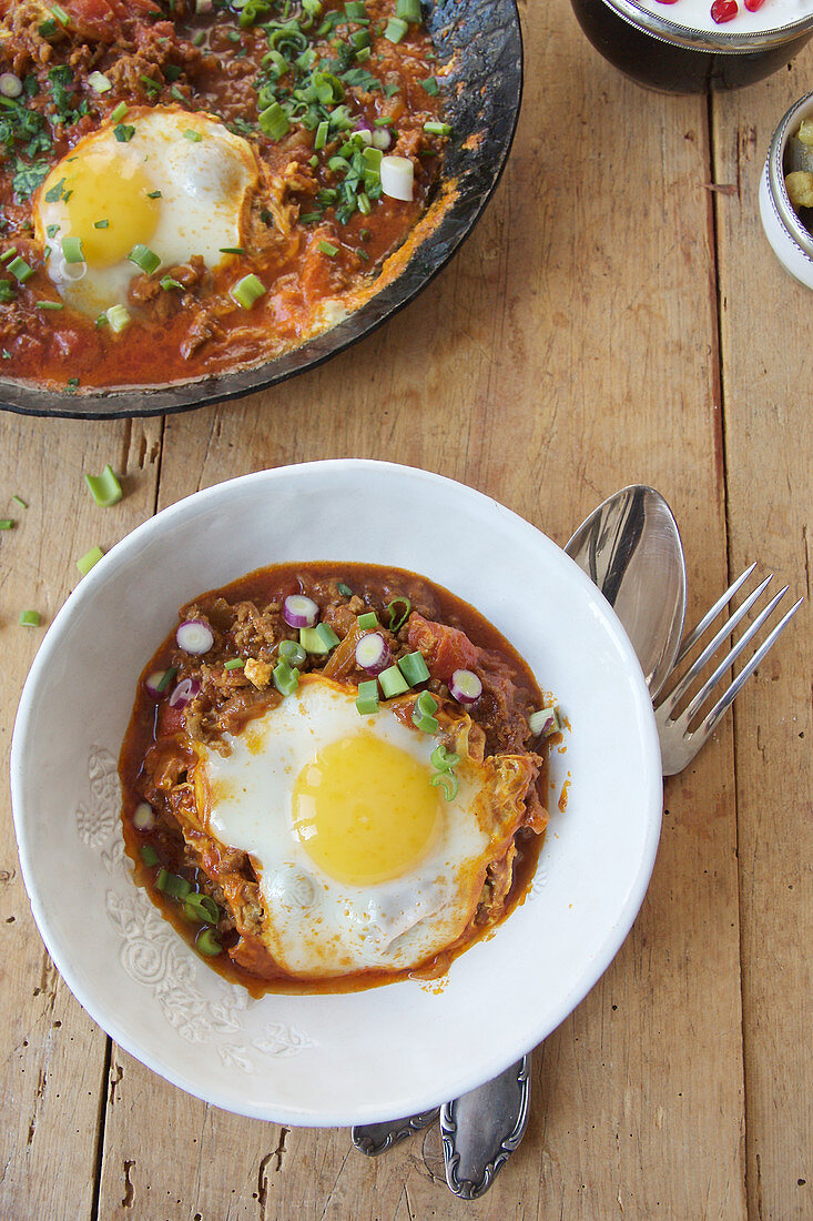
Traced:
<svg viewBox="0 0 813 1221">
<path fill-rule="evenodd" d="M 415 298 L 474 228 L 514 139 L 522 95 L 522 38 L 516 0 L 437 0 L 425 6 L 447 77 L 449 142 L 426 236 L 398 275 L 342 322 L 302 347 L 231 374 L 155 387 L 73 394 L 0 379 L 0 408 L 27 415 L 114 419 L 162 415 L 265 389 L 313 369 L 369 335 Z M 422 222 L 419 222 L 419 225 Z"/>
</svg>

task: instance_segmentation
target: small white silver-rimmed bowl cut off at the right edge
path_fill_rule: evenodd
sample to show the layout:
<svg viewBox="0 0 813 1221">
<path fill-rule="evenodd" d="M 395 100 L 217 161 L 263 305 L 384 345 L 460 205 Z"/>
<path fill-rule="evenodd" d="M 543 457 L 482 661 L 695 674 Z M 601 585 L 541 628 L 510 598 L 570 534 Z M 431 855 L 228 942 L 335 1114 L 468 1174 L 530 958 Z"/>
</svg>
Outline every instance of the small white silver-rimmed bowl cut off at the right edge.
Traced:
<svg viewBox="0 0 813 1221">
<path fill-rule="evenodd" d="M 813 288 L 813 233 L 793 211 L 785 187 L 785 149 L 803 118 L 813 117 L 813 93 L 785 112 L 774 132 L 759 179 L 759 217 L 770 248 L 785 271 L 806 288 Z"/>
</svg>

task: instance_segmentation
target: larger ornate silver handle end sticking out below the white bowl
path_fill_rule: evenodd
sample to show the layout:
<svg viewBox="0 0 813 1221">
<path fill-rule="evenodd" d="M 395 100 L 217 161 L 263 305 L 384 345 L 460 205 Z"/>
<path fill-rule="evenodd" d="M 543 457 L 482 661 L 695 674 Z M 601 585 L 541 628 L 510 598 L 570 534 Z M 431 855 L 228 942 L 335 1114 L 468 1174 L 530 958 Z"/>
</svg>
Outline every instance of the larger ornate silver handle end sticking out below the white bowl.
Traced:
<svg viewBox="0 0 813 1221">
<path fill-rule="evenodd" d="M 530 1101 L 529 1054 L 441 1109 L 446 1181 L 455 1195 L 485 1195 L 525 1136 Z"/>
</svg>

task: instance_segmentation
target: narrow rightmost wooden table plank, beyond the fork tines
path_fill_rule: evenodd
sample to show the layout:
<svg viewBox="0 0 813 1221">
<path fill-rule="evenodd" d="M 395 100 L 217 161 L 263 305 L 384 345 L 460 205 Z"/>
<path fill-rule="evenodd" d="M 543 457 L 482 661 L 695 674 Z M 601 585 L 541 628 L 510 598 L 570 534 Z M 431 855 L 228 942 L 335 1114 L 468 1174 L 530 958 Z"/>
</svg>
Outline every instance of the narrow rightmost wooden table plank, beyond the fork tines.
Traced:
<svg viewBox="0 0 813 1221">
<path fill-rule="evenodd" d="M 774 258 L 757 188 L 785 110 L 811 88 L 808 48 L 717 106 L 725 447 L 732 575 L 759 558 L 807 602 L 735 706 L 750 1212 L 813 1211 L 813 768 L 811 763 L 811 292 Z"/>
</svg>

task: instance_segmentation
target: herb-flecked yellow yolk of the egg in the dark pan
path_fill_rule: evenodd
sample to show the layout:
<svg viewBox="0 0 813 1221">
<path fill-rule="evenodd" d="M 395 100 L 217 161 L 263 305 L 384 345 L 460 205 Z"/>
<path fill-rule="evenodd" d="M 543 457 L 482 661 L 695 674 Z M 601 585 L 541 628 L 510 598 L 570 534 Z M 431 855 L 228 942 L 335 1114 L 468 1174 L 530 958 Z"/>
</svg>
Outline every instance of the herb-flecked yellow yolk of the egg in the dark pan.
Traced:
<svg viewBox="0 0 813 1221">
<path fill-rule="evenodd" d="M 59 209 L 65 223 L 57 238 L 81 238 L 89 266 L 110 267 L 126 259 L 137 243 L 149 244 L 157 227 L 160 195 L 137 164 L 114 161 L 105 153 L 62 161 L 45 182 L 43 198 L 60 181 Z"/>
</svg>

